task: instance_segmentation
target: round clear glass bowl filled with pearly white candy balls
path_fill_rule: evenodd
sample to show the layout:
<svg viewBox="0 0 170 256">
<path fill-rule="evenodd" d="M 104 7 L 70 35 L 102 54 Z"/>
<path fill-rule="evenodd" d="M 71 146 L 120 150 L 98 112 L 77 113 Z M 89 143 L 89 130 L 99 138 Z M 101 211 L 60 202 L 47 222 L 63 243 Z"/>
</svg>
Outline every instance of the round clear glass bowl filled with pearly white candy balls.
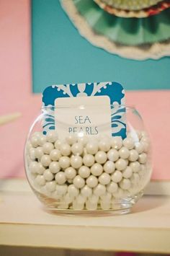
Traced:
<svg viewBox="0 0 170 256">
<path fill-rule="evenodd" d="M 123 214 L 143 195 L 152 171 L 148 133 L 134 107 L 111 108 L 117 113 L 112 136 L 104 133 L 103 120 L 102 135 L 68 133 L 61 139 L 54 125 L 55 107 L 43 108 L 31 126 L 24 151 L 25 170 L 46 210 Z M 47 114 L 50 118 L 45 123 Z M 64 120 L 63 116 L 63 128 Z M 126 123 L 124 135 L 114 135 L 117 129 L 121 131 L 122 120 Z"/>
</svg>

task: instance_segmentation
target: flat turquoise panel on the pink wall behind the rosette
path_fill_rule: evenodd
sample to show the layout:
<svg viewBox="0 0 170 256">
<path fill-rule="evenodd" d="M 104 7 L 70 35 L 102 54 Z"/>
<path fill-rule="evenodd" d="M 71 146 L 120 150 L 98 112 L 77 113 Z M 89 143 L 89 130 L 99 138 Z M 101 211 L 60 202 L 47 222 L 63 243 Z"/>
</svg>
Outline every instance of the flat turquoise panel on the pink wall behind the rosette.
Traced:
<svg viewBox="0 0 170 256">
<path fill-rule="evenodd" d="M 170 89 L 170 58 L 132 61 L 96 48 L 59 0 L 32 0 L 32 91 L 51 84 L 118 81 L 125 89 Z"/>
</svg>

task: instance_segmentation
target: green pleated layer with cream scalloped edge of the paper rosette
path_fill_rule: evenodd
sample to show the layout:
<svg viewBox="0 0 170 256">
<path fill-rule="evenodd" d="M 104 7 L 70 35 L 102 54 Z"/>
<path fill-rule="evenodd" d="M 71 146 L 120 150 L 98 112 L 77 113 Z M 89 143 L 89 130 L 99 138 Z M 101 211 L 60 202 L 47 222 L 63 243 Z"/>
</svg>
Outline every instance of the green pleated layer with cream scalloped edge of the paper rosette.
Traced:
<svg viewBox="0 0 170 256">
<path fill-rule="evenodd" d="M 61 0 L 81 35 L 94 45 L 125 58 L 170 55 L 170 9 L 148 18 L 122 18 L 93 0 Z"/>
</svg>

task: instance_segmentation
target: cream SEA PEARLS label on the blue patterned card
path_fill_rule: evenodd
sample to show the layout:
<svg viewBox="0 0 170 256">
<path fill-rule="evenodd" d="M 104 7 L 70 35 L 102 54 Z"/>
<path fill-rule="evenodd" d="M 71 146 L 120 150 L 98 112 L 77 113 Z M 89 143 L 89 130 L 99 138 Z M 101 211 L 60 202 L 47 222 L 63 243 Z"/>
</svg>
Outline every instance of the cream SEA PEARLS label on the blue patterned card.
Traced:
<svg viewBox="0 0 170 256">
<path fill-rule="evenodd" d="M 111 110 L 108 96 L 64 97 L 55 100 L 55 130 L 59 138 L 69 133 L 78 136 L 111 134 Z"/>
</svg>

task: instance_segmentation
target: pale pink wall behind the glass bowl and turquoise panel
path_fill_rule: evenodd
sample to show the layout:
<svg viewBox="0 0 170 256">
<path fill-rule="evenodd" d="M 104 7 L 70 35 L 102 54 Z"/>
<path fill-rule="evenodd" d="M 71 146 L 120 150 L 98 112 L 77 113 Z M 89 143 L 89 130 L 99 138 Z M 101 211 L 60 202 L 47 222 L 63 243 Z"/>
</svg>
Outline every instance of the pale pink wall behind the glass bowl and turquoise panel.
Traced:
<svg viewBox="0 0 170 256">
<path fill-rule="evenodd" d="M 30 1 L 0 0 L 0 115 L 22 112 L 22 118 L 0 128 L 0 177 L 23 177 L 24 140 L 37 116 L 40 95 L 31 93 Z M 153 179 L 170 180 L 170 91 L 127 92 L 146 121 L 153 143 Z"/>
</svg>

